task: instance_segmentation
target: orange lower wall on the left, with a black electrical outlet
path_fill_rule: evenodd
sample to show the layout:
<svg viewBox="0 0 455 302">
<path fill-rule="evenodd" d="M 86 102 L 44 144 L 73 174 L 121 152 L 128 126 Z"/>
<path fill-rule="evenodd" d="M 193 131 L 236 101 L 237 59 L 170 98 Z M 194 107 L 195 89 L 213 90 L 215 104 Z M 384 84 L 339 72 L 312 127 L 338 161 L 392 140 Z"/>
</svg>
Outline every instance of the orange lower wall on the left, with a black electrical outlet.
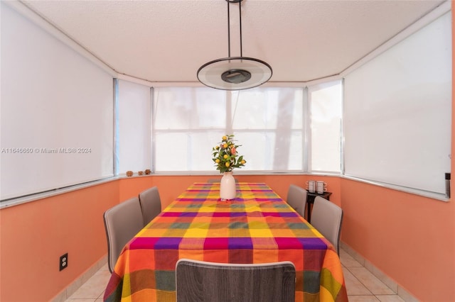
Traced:
<svg viewBox="0 0 455 302">
<path fill-rule="evenodd" d="M 118 202 L 112 181 L 1 209 L 0 301 L 50 301 L 104 257 L 102 213 Z"/>
</svg>

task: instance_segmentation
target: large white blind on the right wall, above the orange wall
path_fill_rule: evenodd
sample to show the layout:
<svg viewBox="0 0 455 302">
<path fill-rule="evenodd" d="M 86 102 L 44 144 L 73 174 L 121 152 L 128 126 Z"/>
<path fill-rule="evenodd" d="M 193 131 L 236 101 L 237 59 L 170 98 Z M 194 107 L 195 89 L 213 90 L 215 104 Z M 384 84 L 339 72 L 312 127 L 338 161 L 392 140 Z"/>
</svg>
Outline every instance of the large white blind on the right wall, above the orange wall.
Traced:
<svg viewBox="0 0 455 302">
<path fill-rule="evenodd" d="M 346 76 L 346 175 L 444 193 L 451 53 L 446 13 Z"/>
</svg>

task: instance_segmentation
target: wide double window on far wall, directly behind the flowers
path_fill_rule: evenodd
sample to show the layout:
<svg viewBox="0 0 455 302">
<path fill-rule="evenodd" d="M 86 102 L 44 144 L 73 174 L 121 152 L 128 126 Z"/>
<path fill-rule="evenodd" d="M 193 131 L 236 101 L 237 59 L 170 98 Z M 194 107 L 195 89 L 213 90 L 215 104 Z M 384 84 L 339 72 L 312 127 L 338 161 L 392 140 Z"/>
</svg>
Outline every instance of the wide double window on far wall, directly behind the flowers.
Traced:
<svg viewBox="0 0 455 302">
<path fill-rule="evenodd" d="M 154 89 L 156 172 L 213 171 L 212 147 L 235 134 L 244 171 L 304 170 L 304 89 Z"/>
</svg>

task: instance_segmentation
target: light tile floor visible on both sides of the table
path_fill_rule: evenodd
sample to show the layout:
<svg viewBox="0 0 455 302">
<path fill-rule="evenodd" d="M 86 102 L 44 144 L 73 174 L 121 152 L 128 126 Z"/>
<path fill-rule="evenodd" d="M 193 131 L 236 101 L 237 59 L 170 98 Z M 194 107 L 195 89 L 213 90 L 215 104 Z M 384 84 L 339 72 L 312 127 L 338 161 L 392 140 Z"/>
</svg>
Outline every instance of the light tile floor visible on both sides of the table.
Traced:
<svg viewBox="0 0 455 302">
<path fill-rule="evenodd" d="M 340 250 L 341 264 L 350 302 L 403 302 L 404 300 L 371 274 L 343 249 Z M 66 302 L 100 302 L 105 292 L 110 273 L 107 264 L 96 272 Z"/>
</svg>

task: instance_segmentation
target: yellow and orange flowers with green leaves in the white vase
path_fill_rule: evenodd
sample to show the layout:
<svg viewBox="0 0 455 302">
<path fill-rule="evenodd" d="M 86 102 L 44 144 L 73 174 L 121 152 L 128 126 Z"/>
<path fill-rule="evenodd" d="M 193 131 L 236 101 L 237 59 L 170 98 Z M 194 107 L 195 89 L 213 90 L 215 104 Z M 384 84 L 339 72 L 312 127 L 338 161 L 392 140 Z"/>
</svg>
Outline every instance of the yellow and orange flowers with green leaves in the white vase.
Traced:
<svg viewBox="0 0 455 302">
<path fill-rule="evenodd" d="M 213 162 L 220 173 L 245 166 L 246 161 L 243 159 L 243 155 L 239 156 L 237 153 L 237 147 L 240 145 L 235 145 L 233 138 L 233 134 L 225 135 L 222 141 L 212 148 Z"/>
</svg>

